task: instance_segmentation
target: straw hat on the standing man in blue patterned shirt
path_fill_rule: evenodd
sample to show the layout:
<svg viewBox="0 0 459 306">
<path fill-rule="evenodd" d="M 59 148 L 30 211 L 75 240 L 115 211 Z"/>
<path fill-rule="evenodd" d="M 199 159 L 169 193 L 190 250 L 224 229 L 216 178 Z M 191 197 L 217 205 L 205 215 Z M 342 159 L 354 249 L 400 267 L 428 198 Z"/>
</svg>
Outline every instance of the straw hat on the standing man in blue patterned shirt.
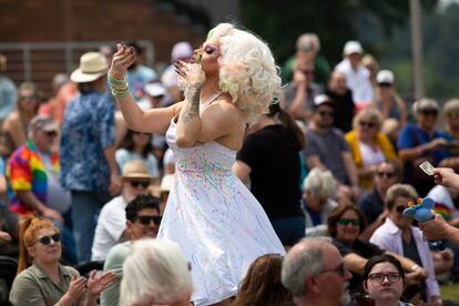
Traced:
<svg viewBox="0 0 459 306">
<path fill-rule="evenodd" d="M 81 55 L 80 67 L 72 72 L 70 80 L 75 83 L 88 83 L 106 74 L 109 64 L 101 52 L 88 52 Z"/>
</svg>

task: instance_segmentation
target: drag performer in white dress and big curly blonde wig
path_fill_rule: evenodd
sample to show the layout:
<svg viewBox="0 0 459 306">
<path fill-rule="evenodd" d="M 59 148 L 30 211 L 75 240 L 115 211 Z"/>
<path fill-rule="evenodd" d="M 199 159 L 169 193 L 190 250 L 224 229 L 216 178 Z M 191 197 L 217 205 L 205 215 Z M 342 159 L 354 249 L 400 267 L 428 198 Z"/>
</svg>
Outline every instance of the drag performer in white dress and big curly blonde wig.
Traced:
<svg viewBox="0 0 459 306">
<path fill-rule="evenodd" d="M 285 254 L 263 207 L 232 172 L 247 124 L 280 89 L 269 48 L 254 34 L 222 23 L 196 51 L 196 63 L 176 63 L 185 100 L 142 111 L 129 93 L 132 48 L 118 45 L 109 72 L 112 94 L 139 132 L 166 133 L 176 161 L 159 238 L 181 245 L 192 264 L 195 305 L 237 293 L 255 258 Z"/>
</svg>

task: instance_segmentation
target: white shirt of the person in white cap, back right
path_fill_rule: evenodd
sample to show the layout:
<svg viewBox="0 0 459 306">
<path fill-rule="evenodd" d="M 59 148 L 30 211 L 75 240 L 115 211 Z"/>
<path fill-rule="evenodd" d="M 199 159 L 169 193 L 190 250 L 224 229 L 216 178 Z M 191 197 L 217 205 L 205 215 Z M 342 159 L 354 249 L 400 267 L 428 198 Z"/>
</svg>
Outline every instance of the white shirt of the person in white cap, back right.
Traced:
<svg viewBox="0 0 459 306">
<path fill-rule="evenodd" d="M 363 64 L 355 71 L 348 59 L 344 59 L 335 67 L 335 70 L 346 75 L 347 86 L 353 91 L 353 100 L 356 104 L 368 104 L 374 99 L 374 91 L 369 80 L 370 72 Z"/>
</svg>

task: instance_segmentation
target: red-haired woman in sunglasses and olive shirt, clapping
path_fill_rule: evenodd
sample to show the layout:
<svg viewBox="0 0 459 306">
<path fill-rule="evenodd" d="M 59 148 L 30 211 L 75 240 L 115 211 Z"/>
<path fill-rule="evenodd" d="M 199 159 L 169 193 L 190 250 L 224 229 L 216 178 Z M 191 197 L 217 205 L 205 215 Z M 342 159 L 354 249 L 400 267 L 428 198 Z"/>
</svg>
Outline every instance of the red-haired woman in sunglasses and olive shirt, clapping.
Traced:
<svg viewBox="0 0 459 306">
<path fill-rule="evenodd" d="M 99 294 L 114 279 L 113 272 L 89 278 L 59 263 L 61 233 L 51 221 L 26 217 L 20 226 L 18 275 L 10 302 L 16 305 L 96 305 Z"/>
</svg>

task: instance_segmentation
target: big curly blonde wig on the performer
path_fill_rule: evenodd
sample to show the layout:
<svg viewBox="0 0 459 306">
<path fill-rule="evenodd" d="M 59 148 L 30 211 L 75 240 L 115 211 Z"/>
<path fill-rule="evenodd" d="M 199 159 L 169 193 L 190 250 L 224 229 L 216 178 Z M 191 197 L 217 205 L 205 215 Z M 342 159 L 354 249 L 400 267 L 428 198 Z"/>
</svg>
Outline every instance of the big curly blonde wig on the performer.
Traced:
<svg viewBox="0 0 459 306">
<path fill-rule="evenodd" d="M 247 123 L 256 123 L 280 93 L 279 69 L 269 48 L 231 23 L 220 23 L 212 29 L 207 35 L 210 40 L 220 44 L 220 89 L 230 93 Z M 186 90 L 186 85 L 184 80 L 178 80 L 178 88 Z"/>
</svg>

